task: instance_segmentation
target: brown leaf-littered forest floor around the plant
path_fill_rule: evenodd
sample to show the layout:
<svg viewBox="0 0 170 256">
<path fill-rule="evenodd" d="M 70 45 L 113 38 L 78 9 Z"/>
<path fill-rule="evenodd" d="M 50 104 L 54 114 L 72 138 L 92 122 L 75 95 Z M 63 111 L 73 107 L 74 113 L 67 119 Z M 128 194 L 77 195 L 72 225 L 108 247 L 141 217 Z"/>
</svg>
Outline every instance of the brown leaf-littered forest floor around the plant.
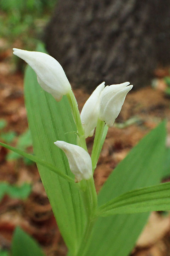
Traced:
<svg viewBox="0 0 170 256">
<path fill-rule="evenodd" d="M 1 43 L 4 44 L 4 42 L 0 41 L 0 47 Z M 3 133 L 15 132 L 11 144 L 16 146 L 19 136 L 27 131 L 28 123 L 24 106 L 23 74 L 17 71 L 11 59 L 11 49 L 0 51 L 0 121 L 7 123 Z M 168 119 L 167 145 L 170 146 L 170 98 L 164 92 L 165 76 L 169 76 L 169 69 L 156 70 L 156 89 L 148 86 L 138 91 L 132 90 L 127 95 L 117 118 L 119 128 L 109 128 L 95 171 L 97 191 L 129 150 L 164 118 Z M 82 89 L 76 89 L 74 92 L 81 111 L 89 95 Z M 129 119 L 131 125 L 127 122 Z M 123 124 L 122 128 L 120 123 Z M 93 137 L 87 139 L 89 152 L 93 139 Z M 0 140 L 2 141 L 3 137 Z M 6 142 L 5 139 L 4 142 Z M 31 147 L 28 148 L 28 150 L 31 149 Z M 1 199 L 0 247 L 10 248 L 13 230 L 19 225 L 41 244 L 47 256 L 66 255 L 66 246 L 57 228 L 36 165 L 25 164 L 22 159 L 7 161 L 7 154 L 8 150 L 0 147 L 0 182 L 5 181 L 16 185 L 27 182 L 32 185 L 32 192 L 24 201 L 7 195 Z M 170 255 L 169 215 L 155 212 L 151 214 L 132 255 Z"/>
</svg>

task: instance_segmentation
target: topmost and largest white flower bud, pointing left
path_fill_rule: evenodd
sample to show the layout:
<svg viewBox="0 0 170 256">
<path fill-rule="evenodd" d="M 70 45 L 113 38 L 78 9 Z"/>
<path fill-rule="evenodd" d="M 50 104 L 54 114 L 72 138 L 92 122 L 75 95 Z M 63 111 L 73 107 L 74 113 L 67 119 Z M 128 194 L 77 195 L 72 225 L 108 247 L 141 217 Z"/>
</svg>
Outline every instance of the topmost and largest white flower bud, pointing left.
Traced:
<svg viewBox="0 0 170 256">
<path fill-rule="evenodd" d="M 25 60 L 37 75 L 40 86 L 57 100 L 71 90 L 70 83 L 59 62 L 46 53 L 13 48 L 13 54 Z"/>
</svg>

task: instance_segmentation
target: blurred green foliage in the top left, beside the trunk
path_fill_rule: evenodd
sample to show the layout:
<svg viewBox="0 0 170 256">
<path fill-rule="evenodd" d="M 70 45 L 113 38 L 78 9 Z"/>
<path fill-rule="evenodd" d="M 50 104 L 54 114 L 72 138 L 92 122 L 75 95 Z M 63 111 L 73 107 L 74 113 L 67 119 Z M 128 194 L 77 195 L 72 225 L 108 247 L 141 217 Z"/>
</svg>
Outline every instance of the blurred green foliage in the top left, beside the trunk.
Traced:
<svg viewBox="0 0 170 256">
<path fill-rule="evenodd" d="M 48 13 L 56 0 L 1 0 L 0 36 L 8 41 L 20 36 L 24 48 L 33 49 L 37 43 L 36 34 L 48 19 Z M 41 21 L 38 19 L 41 18 Z M 43 20 L 42 20 L 43 18 Z"/>
</svg>

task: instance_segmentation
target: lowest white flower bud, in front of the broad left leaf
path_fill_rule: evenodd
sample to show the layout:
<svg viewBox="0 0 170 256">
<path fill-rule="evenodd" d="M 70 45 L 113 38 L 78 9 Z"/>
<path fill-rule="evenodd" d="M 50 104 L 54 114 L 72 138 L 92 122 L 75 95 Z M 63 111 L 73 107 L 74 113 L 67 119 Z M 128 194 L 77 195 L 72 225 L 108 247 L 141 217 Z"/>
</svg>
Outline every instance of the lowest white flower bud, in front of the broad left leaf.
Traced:
<svg viewBox="0 0 170 256">
<path fill-rule="evenodd" d="M 66 154 L 70 170 L 75 175 L 75 182 L 89 180 L 92 177 L 91 158 L 85 149 L 61 140 L 57 140 L 54 144 Z"/>
</svg>

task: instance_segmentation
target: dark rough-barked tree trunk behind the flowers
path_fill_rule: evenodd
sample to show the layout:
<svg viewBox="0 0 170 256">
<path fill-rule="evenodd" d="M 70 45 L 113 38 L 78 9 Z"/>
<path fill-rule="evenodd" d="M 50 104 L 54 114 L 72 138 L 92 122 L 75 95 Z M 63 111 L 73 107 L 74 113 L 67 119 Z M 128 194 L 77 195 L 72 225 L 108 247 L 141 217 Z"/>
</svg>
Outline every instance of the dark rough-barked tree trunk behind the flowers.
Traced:
<svg viewBox="0 0 170 256">
<path fill-rule="evenodd" d="M 170 1 L 59 0 L 44 40 L 76 87 L 138 88 L 170 63 Z"/>
</svg>

